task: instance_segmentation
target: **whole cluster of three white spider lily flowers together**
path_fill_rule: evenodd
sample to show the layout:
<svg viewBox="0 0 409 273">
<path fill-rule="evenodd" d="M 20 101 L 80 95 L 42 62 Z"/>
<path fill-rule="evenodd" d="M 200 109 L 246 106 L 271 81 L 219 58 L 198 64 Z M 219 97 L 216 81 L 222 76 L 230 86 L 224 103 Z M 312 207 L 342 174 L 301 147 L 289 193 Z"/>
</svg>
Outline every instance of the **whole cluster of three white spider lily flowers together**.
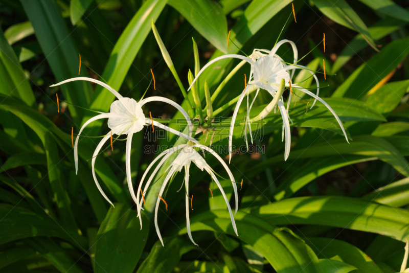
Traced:
<svg viewBox="0 0 409 273">
<path fill-rule="evenodd" d="M 282 44 L 284 43 L 289 43 L 292 47 L 293 50 L 293 60 L 291 63 L 285 62 L 280 56 L 276 54 L 277 50 L 281 47 Z M 338 122 L 339 126 L 342 128 L 342 131 L 344 132 L 345 138 L 348 141 L 347 134 L 345 132 L 344 126 L 339 120 L 338 116 L 336 115 L 335 111 L 323 100 L 321 99 L 319 95 L 319 90 L 320 90 L 320 84 L 319 81 L 315 75 L 314 72 L 310 71 L 307 69 L 307 67 L 299 65 L 298 62 L 298 51 L 297 47 L 294 44 L 294 42 L 289 41 L 289 40 L 281 40 L 278 42 L 274 48 L 269 50 L 262 50 L 262 49 L 255 49 L 251 55 L 248 57 L 246 56 L 241 56 L 237 54 L 228 54 L 228 55 L 223 55 L 218 58 L 213 59 L 209 63 L 207 63 L 203 68 L 200 70 L 200 72 L 197 74 L 196 78 L 191 83 L 191 86 L 195 83 L 197 78 L 201 75 L 201 73 L 206 70 L 211 64 L 214 62 L 217 62 L 218 60 L 221 59 L 226 59 L 226 58 L 236 58 L 236 59 L 241 59 L 242 63 L 244 64 L 245 62 L 249 63 L 251 65 L 251 70 L 249 74 L 249 79 L 246 82 L 246 86 L 244 87 L 243 92 L 240 94 L 239 99 L 237 101 L 236 107 L 233 112 L 232 116 L 232 122 L 230 126 L 230 132 L 229 132 L 229 154 L 230 154 L 230 160 L 232 156 L 232 142 L 233 142 L 233 129 L 235 125 L 235 120 L 237 118 L 238 110 L 243 102 L 243 100 L 247 97 L 247 116 L 245 119 L 245 130 L 247 130 L 247 127 L 251 126 L 252 122 L 261 120 L 265 118 L 269 113 L 278 107 L 281 117 L 283 119 L 283 139 L 285 136 L 285 152 L 284 152 L 284 158 L 285 160 L 287 159 L 290 151 L 290 117 L 289 117 L 289 111 L 288 107 L 291 101 L 291 96 L 288 96 L 288 101 L 287 101 L 287 107 L 284 105 L 284 98 L 283 98 L 283 92 L 285 87 L 289 88 L 296 88 L 300 90 L 301 92 L 304 92 L 314 98 L 314 103 L 316 100 L 320 101 L 323 103 L 334 115 L 336 121 Z M 311 73 L 312 77 L 314 77 L 316 81 L 316 94 L 310 92 L 309 90 L 302 88 L 299 84 L 297 83 L 291 83 L 292 77 L 294 75 L 294 72 L 296 70 L 303 69 Z M 188 113 L 177 103 L 174 101 L 163 98 L 163 97 L 149 97 L 146 99 L 142 99 L 139 102 L 135 101 L 132 98 L 124 98 L 122 97 L 115 89 L 110 87 L 109 85 L 92 79 L 92 78 L 86 78 L 86 77 L 77 77 L 77 78 L 72 78 L 68 79 L 65 81 L 62 81 L 60 83 L 54 84 L 52 86 L 57 86 L 66 82 L 70 81 L 77 81 L 77 80 L 85 80 L 85 81 L 91 81 L 94 83 L 97 83 L 99 85 L 102 85 L 105 87 L 107 90 L 109 90 L 113 95 L 117 97 L 117 100 L 112 102 L 110 106 L 110 111 L 108 113 L 103 113 L 100 112 L 99 115 L 90 118 L 88 121 L 86 121 L 83 126 L 81 127 L 78 136 L 75 141 L 74 145 L 74 158 L 75 158 L 75 169 L 76 171 L 78 170 L 78 140 L 81 135 L 81 132 L 83 129 L 93 121 L 99 120 L 99 119 L 108 119 L 108 127 L 110 131 L 102 138 L 100 143 L 97 145 L 97 148 L 95 149 L 95 152 L 92 157 L 92 173 L 94 177 L 95 184 L 98 187 L 98 190 L 101 192 L 101 194 L 104 196 L 104 198 L 112 204 L 112 202 L 108 199 L 108 197 L 105 195 L 103 192 L 101 186 L 99 185 L 98 179 L 95 174 L 95 161 L 97 158 L 97 155 L 99 154 L 102 146 L 108 141 L 109 138 L 112 138 L 112 134 L 115 135 L 127 135 L 127 141 L 126 141 L 126 160 L 125 160 L 125 167 L 126 167 L 126 177 L 127 177 L 127 183 L 128 183 L 128 188 L 129 192 L 131 194 L 131 197 L 133 201 L 137 204 L 137 211 L 138 211 L 138 217 L 140 219 L 141 223 L 141 229 L 142 229 L 142 218 L 141 218 L 141 210 L 143 210 L 143 203 L 145 201 L 145 196 L 148 193 L 149 187 L 152 185 L 152 181 L 155 178 L 155 175 L 158 173 L 159 169 L 166 163 L 170 162 L 168 165 L 168 168 L 166 169 L 166 175 L 165 178 L 163 179 L 163 184 L 161 186 L 160 191 L 157 193 L 158 198 L 156 201 L 156 206 L 155 206 L 155 214 L 154 214 L 154 223 L 155 223 L 155 229 L 156 233 L 161 240 L 162 236 L 158 228 L 157 224 L 157 212 L 158 212 L 158 206 L 161 202 L 161 200 L 164 201 L 162 195 L 166 189 L 167 184 L 169 181 L 172 179 L 172 177 L 177 173 L 181 172 L 182 169 L 185 169 L 185 178 L 184 178 L 184 184 L 185 184 L 185 203 L 186 203 L 186 222 L 187 222 L 187 231 L 188 231 L 188 236 L 191 239 L 191 241 L 196 244 L 192 238 L 191 235 L 191 230 L 190 230 L 190 220 L 189 220 L 189 170 L 190 170 L 190 165 L 193 163 L 196 165 L 197 168 L 199 168 L 201 171 L 206 171 L 211 179 L 215 181 L 217 187 L 219 188 L 224 201 L 226 203 L 226 207 L 229 210 L 230 218 L 232 221 L 232 226 L 234 229 L 234 232 L 237 233 L 237 228 L 236 228 L 236 223 L 234 220 L 233 212 L 229 204 L 229 200 L 226 197 L 219 180 L 217 179 L 215 172 L 212 170 L 212 168 L 209 166 L 208 163 L 206 163 L 205 158 L 202 157 L 202 155 L 198 152 L 198 150 L 202 151 L 207 151 L 210 154 L 212 154 L 214 157 L 217 158 L 219 163 L 223 166 L 225 169 L 226 173 L 229 175 L 229 179 L 232 181 L 232 186 L 234 190 L 234 195 L 235 195 L 235 212 L 238 210 L 238 196 L 237 196 L 237 186 L 236 186 L 236 181 L 235 178 L 233 177 L 232 172 L 230 171 L 228 165 L 223 161 L 223 159 L 211 148 L 204 146 L 200 144 L 196 139 L 192 137 L 192 132 L 193 132 L 193 124 L 190 120 L 190 117 Z M 189 89 L 190 89 L 189 87 Z M 254 104 L 255 98 L 257 97 L 259 90 L 263 89 L 266 90 L 272 97 L 271 102 L 259 113 L 258 116 L 255 118 L 251 119 L 250 118 L 250 111 L 252 109 L 252 106 Z M 256 91 L 256 95 L 251 103 L 249 103 L 249 94 Z M 152 117 L 146 118 L 143 112 L 142 107 L 149 102 L 153 101 L 158 101 L 158 102 L 164 102 L 167 104 L 172 105 L 175 107 L 177 110 L 179 110 L 183 116 L 185 117 L 187 124 L 188 124 L 188 133 L 185 134 L 183 132 L 179 132 L 177 130 L 174 130 L 164 124 L 161 124 L 157 121 L 154 121 Z M 312 104 L 312 106 L 314 105 Z M 311 107 L 312 107 L 311 106 Z M 143 129 L 144 126 L 149 126 L 149 125 L 154 125 L 158 128 L 162 128 L 164 130 L 167 130 L 169 132 L 172 132 L 174 134 L 177 134 L 179 137 L 184 138 L 188 141 L 188 144 L 182 144 L 178 145 L 176 147 L 170 148 L 168 150 L 165 150 L 164 152 L 160 153 L 153 161 L 150 163 L 148 168 L 146 169 L 145 173 L 143 174 L 141 181 L 138 186 L 138 190 L 135 194 L 133 184 L 132 184 L 132 179 L 131 179 L 131 167 L 130 167 L 130 151 L 131 151 L 131 142 L 132 142 L 132 136 L 134 133 L 137 133 Z M 251 129 L 249 130 L 251 134 Z M 247 134 L 246 135 L 246 143 L 247 143 Z M 252 138 L 252 135 L 251 135 Z M 253 141 L 253 138 L 252 138 Z M 172 154 L 176 154 L 176 157 L 174 160 L 170 160 L 170 156 Z M 159 161 L 159 162 L 158 162 Z M 158 163 L 157 163 L 158 162 Z M 230 161 L 229 161 L 230 162 Z M 153 168 L 153 166 L 156 164 L 156 167 L 153 169 L 151 174 L 149 175 L 149 178 L 147 179 L 145 183 L 145 179 L 147 178 L 149 172 Z M 141 199 L 142 197 L 142 199 Z M 166 202 L 165 202 L 166 204 Z M 113 206 L 113 204 L 112 204 Z M 166 204 L 167 207 L 167 204 Z"/>
</svg>

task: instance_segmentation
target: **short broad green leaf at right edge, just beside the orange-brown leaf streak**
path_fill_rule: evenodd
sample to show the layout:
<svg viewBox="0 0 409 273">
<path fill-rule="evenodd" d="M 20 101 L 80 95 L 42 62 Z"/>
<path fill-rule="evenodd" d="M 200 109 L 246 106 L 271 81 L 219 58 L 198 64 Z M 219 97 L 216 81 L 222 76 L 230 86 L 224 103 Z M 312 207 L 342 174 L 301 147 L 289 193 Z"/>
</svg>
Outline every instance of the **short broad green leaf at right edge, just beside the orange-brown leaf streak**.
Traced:
<svg viewBox="0 0 409 273">
<path fill-rule="evenodd" d="M 369 95 L 366 103 L 379 113 L 389 113 L 409 90 L 409 80 L 387 83 Z"/>
</svg>

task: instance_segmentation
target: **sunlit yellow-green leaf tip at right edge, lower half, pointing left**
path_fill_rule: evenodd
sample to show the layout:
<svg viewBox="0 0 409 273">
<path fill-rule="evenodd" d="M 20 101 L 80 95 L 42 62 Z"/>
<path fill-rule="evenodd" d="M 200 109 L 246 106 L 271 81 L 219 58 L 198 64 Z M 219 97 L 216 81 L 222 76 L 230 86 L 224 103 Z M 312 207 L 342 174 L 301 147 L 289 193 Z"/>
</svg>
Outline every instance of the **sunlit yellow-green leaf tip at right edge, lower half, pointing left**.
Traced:
<svg viewBox="0 0 409 273">
<path fill-rule="evenodd" d="M 409 178 L 395 181 L 387 186 L 362 197 L 392 207 L 402 207 L 409 204 Z"/>
</svg>

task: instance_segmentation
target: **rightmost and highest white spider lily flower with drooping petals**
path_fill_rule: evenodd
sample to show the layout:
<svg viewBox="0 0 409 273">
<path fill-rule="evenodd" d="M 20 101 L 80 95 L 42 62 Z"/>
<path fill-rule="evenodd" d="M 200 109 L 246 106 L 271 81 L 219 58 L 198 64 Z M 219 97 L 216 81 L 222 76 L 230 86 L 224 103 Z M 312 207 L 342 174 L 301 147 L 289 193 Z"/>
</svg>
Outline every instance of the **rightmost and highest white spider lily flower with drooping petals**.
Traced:
<svg viewBox="0 0 409 273">
<path fill-rule="evenodd" d="M 293 50 L 293 63 L 292 64 L 287 64 L 286 62 L 284 62 L 284 60 L 280 56 L 278 56 L 276 54 L 277 50 L 284 43 L 289 43 L 291 45 L 292 50 Z M 223 55 L 223 56 L 217 57 L 217 58 L 211 60 L 205 66 L 202 67 L 202 69 L 199 71 L 199 73 L 197 74 L 197 76 L 195 77 L 193 82 L 191 83 L 189 89 L 195 83 L 195 81 L 200 76 L 200 74 L 205 69 L 207 69 L 211 64 L 213 64 L 213 63 L 215 63 L 215 62 L 217 62 L 219 60 L 228 59 L 228 58 L 241 59 L 242 63 L 243 62 L 248 62 L 249 64 L 251 64 L 251 71 L 250 71 L 250 76 L 249 76 L 247 85 L 244 88 L 242 94 L 240 95 L 240 97 L 239 97 L 239 99 L 238 99 L 238 101 L 236 103 L 236 107 L 235 107 L 234 112 L 233 112 L 232 122 L 231 122 L 231 125 L 230 125 L 230 132 L 229 132 L 229 156 L 230 156 L 230 160 L 232 158 L 232 152 L 233 152 L 233 150 L 232 150 L 233 129 L 234 129 L 234 124 L 235 124 L 235 121 L 236 121 L 236 118 L 237 118 L 237 113 L 238 113 L 239 107 L 240 107 L 244 97 L 247 95 L 247 117 L 245 119 L 245 130 L 247 132 L 247 126 L 250 126 L 252 121 L 256 121 L 255 119 L 253 119 L 253 120 L 250 119 L 249 112 L 251 111 L 251 108 L 252 108 L 253 103 L 254 103 L 257 95 L 258 95 L 258 92 L 259 92 L 260 88 L 266 90 L 272 96 L 273 100 L 274 100 L 274 98 L 276 96 L 279 96 L 277 104 L 272 105 L 272 106 L 276 106 L 276 105 L 278 106 L 278 109 L 280 110 L 280 113 L 281 113 L 281 116 L 282 116 L 282 119 L 283 119 L 283 137 L 285 135 L 284 160 L 287 160 L 288 155 L 290 153 L 290 146 L 291 146 L 290 123 L 289 123 L 289 121 L 291 119 L 289 118 L 289 113 L 288 113 L 289 105 L 290 105 L 290 102 L 291 102 L 291 96 L 288 97 L 287 109 L 286 109 L 286 107 L 284 106 L 282 93 L 278 95 L 277 91 L 279 89 L 280 82 L 281 82 L 282 79 L 284 79 L 284 81 L 285 81 L 285 86 L 289 87 L 289 84 L 290 84 L 289 81 L 292 79 L 292 77 L 294 75 L 294 72 L 297 69 L 304 69 L 304 70 L 308 71 L 312 75 L 312 77 L 314 77 L 316 85 L 317 85 L 317 91 L 316 91 L 316 94 L 313 94 L 309 90 L 299 86 L 297 83 L 291 84 L 291 87 L 296 88 L 296 89 L 300 90 L 301 92 L 304 92 L 304 93 L 308 94 L 309 96 L 311 96 L 312 98 L 314 98 L 314 102 L 312 103 L 311 107 L 314 106 L 316 100 L 322 102 L 328 108 L 328 110 L 331 111 L 332 115 L 334 115 L 336 121 L 338 122 L 339 126 L 341 127 L 341 129 L 342 129 L 342 131 L 343 131 L 343 133 L 345 135 L 345 139 L 348 142 L 347 133 L 345 132 L 344 126 L 343 126 L 342 122 L 339 120 L 339 118 L 336 115 L 335 111 L 331 108 L 331 106 L 329 106 L 323 99 L 321 99 L 318 96 L 319 92 L 320 92 L 320 83 L 319 83 L 318 78 L 316 77 L 315 73 L 312 72 L 311 70 L 309 70 L 307 67 L 297 64 L 298 50 L 297 50 L 296 44 L 293 41 L 286 40 L 286 39 L 281 40 L 275 45 L 274 48 L 271 49 L 271 51 L 265 50 L 265 49 L 255 49 L 253 51 L 253 54 L 251 54 L 248 57 L 238 55 L 238 54 L 228 54 L 228 55 Z M 251 93 L 251 92 L 253 92 L 255 90 L 257 90 L 255 98 L 253 99 L 252 103 L 249 105 L 248 95 L 249 95 L 249 93 Z M 270 104 L 267 105 L 267 107 L 269 107 L 269 106 L 271 106 L 271 105 Z M 272 107 L 272 108 L 275 108 L 275 107 Z M 272 108 L 271 109 L 265 108 L 258 115 L 257 120 L 259 120 L 261 118 L 264 118 L 272 110 Z M 251 129 L 249 131 L 250 131 L 250 136 L 251 136 L 252 142 L 253 142 Z M 247 133 L 245 133 L 245 137 L 246 137 L 246 144 L 247 144 Z M 230 160 L 229 160 L 229 162 L 230 162 Z"/>
</svg>

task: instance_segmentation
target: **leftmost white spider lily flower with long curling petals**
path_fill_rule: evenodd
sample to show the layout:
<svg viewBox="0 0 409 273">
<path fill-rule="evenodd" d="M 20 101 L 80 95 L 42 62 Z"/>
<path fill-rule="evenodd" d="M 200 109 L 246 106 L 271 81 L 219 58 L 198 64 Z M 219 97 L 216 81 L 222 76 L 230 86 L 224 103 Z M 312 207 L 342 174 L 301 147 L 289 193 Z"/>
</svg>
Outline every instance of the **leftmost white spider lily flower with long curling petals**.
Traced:
<svg viewBox="0 0 409 273">
<path fill-rule="evenodd" d="M 97 176 L 95 174 L 95 161 L 97 159 L 97 155 L 99 154 L 102 146 L 108 141 L 108 139 L 112 134 L 117 134 L 117 135 L 122 135 L 126 134 L 127 135 L 127 140 L 126 140 L 126 150 L 125 150 L 125 166 L 126 166 L 126 178 L 127 178 L 127 183 L 128 183 L 128 188 L 130 192 L 133 192 L 133 187 L 132 187 L 132 181 L 131 181 L 131 168 L 130 168 L 130 151 L 131 151 L 131 143 L 132 143 L 132 135 L 133 133 L 139 132 L 143 129 L 145 125 L 153 125 L 162 128 L 164 130 L 167 130 L 171 133 L 179 135 L 179 137 L 185 138 L 187 140 L 197 142 L 194 138 L 190 137 L 192 135 L 192 130 L 193 130 L 193 125 L 192 122 L 189 118 L 188 113 L 177 103 L 174 101 L 163 98 L 163 97 L 149 97 L 146 99 L 142 99 L 139 102 L 135 101 L 134 99 L 131 98 L 124 98 L 121 96 L 115 89 L 110 87 L 104 82 L 101 82 L 99 80 L 95 80 L 93 78 L 87 78 L 87 77 L 76 77 L 76 78 L 71 78 L 64 80 L 62 82 L 56 83 L 51 85 L 53 86 L 58 86 L 67 82 L 71 81 L 90 81 L 97 83 L 106 89 L 108 89 L 113 95 L 117 97 L 118 100 L 112 102 L 110 106 L 110 111 L 108 113 L 103 113 L 100 112 L 100 115 L 97 115 L 93 118 L 90 118 L 87 120 L 84 125 L 82 125 L 77 138 L 75 140 L 75 145 L 74 145 L 74 162 L 75 162 L 75 172 L 78 173 L 78 140 L 81 135 L 82 130 L 90 123 L 100 120 L 100 119 L 108 119 L 108 127 L 111 129 L 105 137 L 102 138 L 100 143 L 97 145 L 97 148 L 94 151 L 93 157 L 92 157 L 92 172 L 93 172 L 93 177 L 95 184 L 97 185 L 98 190 L 104 196 L 104 198 L 113 206 L 112 202 L 109 200 L 109 198 L 105 195 L 103 192 L 101 186 L 98 183 Z M 159 101 L 159 102 L 165 102 L 168 103 L 172 106 L 174 106 L 176 109 L 178 109 L 181 113 L 183 113 L 189 127 L 189 133 L 188 135 L 182 132 L 179 132 L 175 129 L 172 129 L 162 123 L 159 123 L 157 121 L 153 121 L 149 118 L 146 118 L 142 106 L 144 106 L 148 102 L 152 101 Z M 135 202 L 137 202 L 136 199 L 133 199 Z"/>
</svg>

